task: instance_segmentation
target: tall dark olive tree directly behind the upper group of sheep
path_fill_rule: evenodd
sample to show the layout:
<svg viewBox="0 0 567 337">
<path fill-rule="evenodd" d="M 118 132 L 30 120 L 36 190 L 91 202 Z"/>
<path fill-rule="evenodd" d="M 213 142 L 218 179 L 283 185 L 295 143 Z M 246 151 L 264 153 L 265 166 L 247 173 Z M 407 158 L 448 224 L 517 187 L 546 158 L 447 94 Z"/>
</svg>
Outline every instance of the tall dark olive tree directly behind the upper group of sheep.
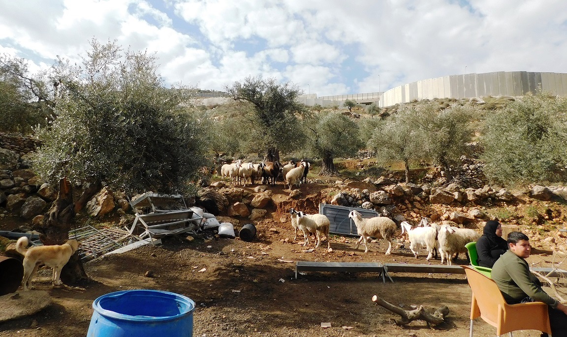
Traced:
<svg viewBox="0 0 567 337">
<path fill-rule="evenodd" d="M 226 87 L 234 100 L 248 103 L 246 139 L 249 148 L 266 153 L 266 160 L 279 161 L 280 151 L 291 152 L 302 142 L 297 114 L 305 110 L 297 97 L 303 93 L 295 84 L 275 78 L 247 77 Z"/>
</svg>

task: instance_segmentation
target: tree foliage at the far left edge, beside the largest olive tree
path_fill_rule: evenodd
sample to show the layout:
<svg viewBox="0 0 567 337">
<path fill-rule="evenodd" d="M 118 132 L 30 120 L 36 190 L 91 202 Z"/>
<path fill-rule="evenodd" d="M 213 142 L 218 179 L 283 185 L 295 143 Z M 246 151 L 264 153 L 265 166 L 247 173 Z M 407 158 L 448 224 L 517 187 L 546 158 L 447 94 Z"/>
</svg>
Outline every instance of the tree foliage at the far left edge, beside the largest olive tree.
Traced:
<svg viewBox="0 0 567 337">
<path fill-rule="evenodd" d="M 0 131 L 29 133 L 45 124 L 51 109 L 41 98 L 48 95 L 43 88 L 43 82 L 28 75 L 24 59 L 0 56 Z"/>
</svg>

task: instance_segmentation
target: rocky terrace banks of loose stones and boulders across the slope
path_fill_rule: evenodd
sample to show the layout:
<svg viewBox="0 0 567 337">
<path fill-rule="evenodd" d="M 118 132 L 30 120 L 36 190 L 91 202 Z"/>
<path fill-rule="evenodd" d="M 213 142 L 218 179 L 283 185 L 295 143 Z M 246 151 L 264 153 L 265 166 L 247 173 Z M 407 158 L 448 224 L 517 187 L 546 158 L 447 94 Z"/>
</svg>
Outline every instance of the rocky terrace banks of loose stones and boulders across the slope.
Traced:
<svg viewBox="0 0 567 337">
<path fill-rule="evenodd" d="M 1 135 L 0 135 L 1 136 Z M 0 229 L 29 230 L 39 221 L 56 198 L 52 186 L 29 169 L 34 143 L 26 138 L 0 137 Z M 7 143 L 10 143 L 7 145 Z M 217 216 L 226 217 L 236 227 L 253 222 L 259 228 L 289 226 L 289 208 L 317 212 L 321 202 L 341 206 L 374 209 L 390 216 L 398 224 L 407 220 L 418 223 L 421 217 L 431 221 L 451 221 L 460 227 L 481 231 L 483 221 L 500 219 L 532 237 L 536 246 L 565 249 L 567 225 L 567 187 L 530 186 L 509 190 L 490 186 L 482 172 L 483 163 L 462 157 L 456 180 L 446 184 L 439 169 L 424 172 L 419 184 L 405 184 L 395 173 L 378 179 L 321 180 L 310 176 L 308 184 L 292 191 L 277 185 L 247 188 L 219 181 L 202 188 L 190 204 L 197 204 Z M 367 162 L 352 159 L 349 165 L 365 172 Z M 215 180 L 215 177 L 213 177 Z M 131 223 L 132 210 L 120 191 L 103 188 L 87 204 L 78 221 L 93 217 L 100 223 Z"/>
</svg>

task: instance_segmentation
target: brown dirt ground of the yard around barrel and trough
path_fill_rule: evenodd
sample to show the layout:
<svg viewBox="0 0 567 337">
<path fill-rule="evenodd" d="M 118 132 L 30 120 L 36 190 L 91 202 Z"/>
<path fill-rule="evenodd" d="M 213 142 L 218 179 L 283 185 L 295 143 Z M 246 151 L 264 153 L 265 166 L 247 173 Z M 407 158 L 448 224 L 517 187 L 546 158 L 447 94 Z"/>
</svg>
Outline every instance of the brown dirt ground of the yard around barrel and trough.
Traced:
<svg viewBox="0 0 567 337">
<path fill-rule="evenodd" d="M 207 236 L 188 242 L 168 237 L 163 245 L 85 263 L 91 281 L 81 285 L 84 289 L 52 288 L 50 272 L 41 270 L 36 288 L 47 291 L 53 304 L 29 317 L 0 323 L 0 336 L 85 336 L 95 298 L 125 289 L 159 289 L 192 298 L 196 303 L 194 336 L 468 335 L 471 291 L 464 275 L 392 273 L 394 282 L 383 283 L 372 273 L 306 272 L 295 279 L 295 261 L 427 263 L 423 257 L 416 262 L 411 251 L 400 246 L 384 255 L 384 240 L 371 243 L 365 254 L 363 247 L 354 249 L 356 238 L 333 235 L 331 253 L 326 245 L 307 252 L 312 247 L 303 247 L 302 240 L 293 241 L 286 208 L 312 208 L 325 198 L 324 190 L 313 193 L 293 201 L 278 191 L 270 215 L 256 223 L 258 234 L 253 242 Z M 282 242 L 285 238 L 290 242 Z M 544 251 L 536 253 L 529 261 L 549 266 L 552 257 Z M 464 256 L 456 263 L 468 264 Z M 145 276 L 148 271 L 153 277 Z M 564 289 L 563 285 L 560 290 Z M 446 323 L 435 327 L 422 321 L 399 327 L 393 323 L 397 315 L 375 305 L 373 295 L 405 309 L 424 305 L 433 312 L 446 305 L 450 314 Z M 331 323 L 331 327 L 321 328 L 321 323 Z M 475 321 L 475 336 L 493 336 L 495 331 L 481 319 Z M 539 336 L 539 332 L 514 335 Z"/>
</svg>

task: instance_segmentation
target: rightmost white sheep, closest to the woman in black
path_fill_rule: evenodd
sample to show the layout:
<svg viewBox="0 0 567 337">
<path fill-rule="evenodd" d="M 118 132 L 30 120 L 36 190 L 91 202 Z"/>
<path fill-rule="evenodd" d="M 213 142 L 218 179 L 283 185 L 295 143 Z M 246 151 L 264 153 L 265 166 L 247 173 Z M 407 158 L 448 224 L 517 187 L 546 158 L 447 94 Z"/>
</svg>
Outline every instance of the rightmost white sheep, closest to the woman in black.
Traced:
<svg viewBox="0 0 567 337">
<path fill-rule="evenodd" d="M 465 253 L 468 256 L 464 245 L 479 240 L 480 234 L 474 229 L 451 227 L 445 224 L 439 226 L 437 238 L 441 263 L 447 259 L 447 265 L 451 266 L 453 255 Z"/>
</svg>

